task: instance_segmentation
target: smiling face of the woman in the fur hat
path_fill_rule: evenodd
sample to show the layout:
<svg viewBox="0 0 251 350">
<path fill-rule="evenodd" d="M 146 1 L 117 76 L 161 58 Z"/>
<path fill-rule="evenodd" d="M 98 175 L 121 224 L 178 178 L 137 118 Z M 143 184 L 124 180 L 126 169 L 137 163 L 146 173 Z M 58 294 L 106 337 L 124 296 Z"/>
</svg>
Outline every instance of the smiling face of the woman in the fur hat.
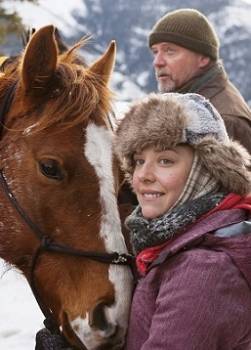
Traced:
<svg viewBox="0 0 251 350">
<path fill-rule="evenodd" d="M 193 149 L 183 145 L 161 152 L 149 147 L 134 154 L 132 186 L 145 218 L 161 216 L 174 205 L 185 187 L 193 155 Z"/>
</svg>

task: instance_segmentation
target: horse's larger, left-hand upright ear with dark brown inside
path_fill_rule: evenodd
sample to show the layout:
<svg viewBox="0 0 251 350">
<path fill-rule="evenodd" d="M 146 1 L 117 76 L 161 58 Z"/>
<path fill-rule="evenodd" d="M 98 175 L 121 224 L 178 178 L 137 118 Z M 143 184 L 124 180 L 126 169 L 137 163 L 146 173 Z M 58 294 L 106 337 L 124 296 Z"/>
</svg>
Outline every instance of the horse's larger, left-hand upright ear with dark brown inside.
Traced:
<svg viewBox="0 0 251 350">
<path fill-rule="evenodd" d="M 52 25 L 41 28 L 26 47 L 21 72 L 27 93 L 43 94 L 56 70 L 58 49 L 54 32 Z"/>
</svg>

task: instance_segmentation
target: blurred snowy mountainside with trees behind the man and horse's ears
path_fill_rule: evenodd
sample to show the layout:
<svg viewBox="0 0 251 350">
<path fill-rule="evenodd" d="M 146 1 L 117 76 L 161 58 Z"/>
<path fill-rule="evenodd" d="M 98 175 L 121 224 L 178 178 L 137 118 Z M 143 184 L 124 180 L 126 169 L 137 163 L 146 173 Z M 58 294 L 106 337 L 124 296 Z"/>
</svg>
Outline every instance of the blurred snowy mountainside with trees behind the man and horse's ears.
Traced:
<svg viewBox="0 0 251 350">
<path fill-rule="evenodd" d="M 147 44 L 149 30 L 165 12 L 182 7 L 196 8 L 214 23 L 225 68 L 251 105 L 251 0 L 2 0 L 0 53 L 19 53 L 25 27 L 50 23 L 68 44 L 92 34 L 83 52 L 87 62 L 115 39 L 118 56 L 113 88 L 120 100 L 130 101 L 156 90 Z"/>
</svg>

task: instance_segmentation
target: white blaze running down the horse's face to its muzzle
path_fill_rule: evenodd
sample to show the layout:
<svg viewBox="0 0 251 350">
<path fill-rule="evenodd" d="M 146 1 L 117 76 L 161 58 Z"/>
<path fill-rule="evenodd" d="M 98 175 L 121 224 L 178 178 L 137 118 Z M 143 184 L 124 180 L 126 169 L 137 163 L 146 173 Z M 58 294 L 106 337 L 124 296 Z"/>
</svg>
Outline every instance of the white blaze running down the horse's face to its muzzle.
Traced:
<svg viewBox="0 0 251 350">
<path fill-rule="evenodd" d="M 103 126 L 90 123 L 86 129 L 86 144 L 84 154 L 93 166 L 100 186 L 100 201 L 102 216 L 100 236 L 106 251 L 126 253 L 126 245 L 121 233 L 121 224 L 117 208 L 113 181 L 112 133 Z M 110 265 L 109 280 L 114 286 L 115 303 L 105 307 L 105 316 L 109 324 L 109 331 L 93 329 L 88 323 L 89 315 L 85 319 L 78 317 L 72 321 L 72 328 L 88 349 L 96 349 L 106 337 L 120 329 L 119 338 L 123 339 L 127 330 L 129 308 L 132 293 L 132 275 L 128 267 Z M 76 331 L 77 330 L 77 331 Z"/>
</svg>

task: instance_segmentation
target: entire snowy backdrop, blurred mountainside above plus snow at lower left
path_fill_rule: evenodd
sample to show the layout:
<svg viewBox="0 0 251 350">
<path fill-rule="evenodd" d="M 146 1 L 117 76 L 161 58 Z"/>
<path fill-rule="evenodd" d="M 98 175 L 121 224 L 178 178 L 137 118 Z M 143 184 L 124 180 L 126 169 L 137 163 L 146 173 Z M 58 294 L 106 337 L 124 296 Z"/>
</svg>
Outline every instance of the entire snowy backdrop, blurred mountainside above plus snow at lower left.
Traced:
<svg viewBox="0 0 251 350">
<path fill-rule="evenodd" d="M 23 31 L 47 24 L 55 25 L 68 45 L 91 34 L 81 52 L 88 63 L 115 39 L 112 88 L 121 111 L 128 101 L 156 90 L 148 33 L 165 12 L 184 7 L 202 11 L 214 23 L 225 68 L 251 106 L 251 0 L 0 0 L 0 55 L 19 54 Z M 1 259 L 0 316 L 1 350 L 34 349 L 42 314 L 27 282 Z"/>
</svg>

